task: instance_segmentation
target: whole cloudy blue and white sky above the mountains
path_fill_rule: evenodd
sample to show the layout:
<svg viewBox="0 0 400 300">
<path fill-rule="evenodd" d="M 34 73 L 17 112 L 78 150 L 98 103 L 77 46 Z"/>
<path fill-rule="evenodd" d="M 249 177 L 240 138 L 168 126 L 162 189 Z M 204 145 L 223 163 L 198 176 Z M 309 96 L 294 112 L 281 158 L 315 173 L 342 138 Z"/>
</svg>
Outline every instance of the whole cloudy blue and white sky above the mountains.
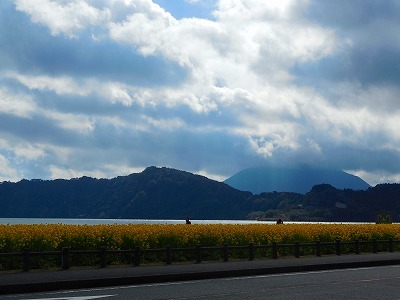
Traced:
<svg viewBox="0 0 400 300">
<path fill-rule="evenodd" d="M 1 0 L 0 181 L 309 165 L 400 182 L 400 1 Z"/>
</svg>

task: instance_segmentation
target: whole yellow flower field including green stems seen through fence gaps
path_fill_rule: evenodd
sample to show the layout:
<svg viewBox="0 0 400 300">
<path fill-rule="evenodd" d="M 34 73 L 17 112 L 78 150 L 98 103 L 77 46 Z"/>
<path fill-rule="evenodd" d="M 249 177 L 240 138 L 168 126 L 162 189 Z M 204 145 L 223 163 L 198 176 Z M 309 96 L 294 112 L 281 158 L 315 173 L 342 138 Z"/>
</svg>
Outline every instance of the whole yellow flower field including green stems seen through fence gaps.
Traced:
<svg viewBox="0 0 400 300">
<path fill-rule="evenodd" d="M 215 246 L 245 246 L 231 248 L 229 256 L 232 259 L 244 259 L 248 257 L 249 244 L 255 247 L 256 258 L 267 258 L 272 255 L 271 244 L 285 244 L 278 249 L 278 256 L 293 255 L 294 242 L 313 243 L 334 242 L 340 239 L 342 242 L 354 240 L 371 241 L 372 239 L 400 240 L 400 224 L 284 224 L 284 225 L 0 225 L 0 254 L 17 252 L 24 249 L 30 252 L 58 251 L 63 247 L 70 250 L 99 250 L 106 247 L 108 250 L 130 250 L 135 247 L 142 249 L 140 263 L 165 262 L 164 251 L 145 251 L 145 249 L 161 249 L 166 246 L 173 248 L 191 248 L 198 244 L 203 247 Z M 400 250 L 400 243 L 395 242 L 395 250 Z M 269 245 L 269 246 L 260 246 Z M 321 249 L 323 255 L 335 253 L 334 244 L 326 245 Z M 371 244 L 362 246 L 364 252 L 371 251 Z M 382 246 L 383 247 L 383 246 Z M 210 249 L 210 248 L 209 248 Z M 218 251 L 218 249 L 220 249 Z M 203 252 L 204 260 L 220 260 L 221 248 Z M 342 245 L 342 253 L 354 253 L 354 245 Z M 386 248 L 387 249 L 387 248 Z M 300 255 L 315 255 L 316 248 L 304 245 Z M 383 250 L 387 251 L 387 250 Z M 75 252 L 75 253 L 77 253 Z M 50 252 L 51 253 L 51 252 Z M 96 254 L 97 253 L 97 254 Z M 94 254 L 80 254 L 71 256 L 73 266 L 98 266 L 99 252 Z M 109 254 L 107 264 L 121 265 L 132 263 L 132 253 Z M 175 251 L 174 262 L 195 261 L 195 251 Z M 60 255 L 33 256 L 30 259 L 30 267 L 57 268 L 60 266 Z M 0 256 L 0 271 L 21 269 L 23 266 L 22 255 Z"/>
</svg>

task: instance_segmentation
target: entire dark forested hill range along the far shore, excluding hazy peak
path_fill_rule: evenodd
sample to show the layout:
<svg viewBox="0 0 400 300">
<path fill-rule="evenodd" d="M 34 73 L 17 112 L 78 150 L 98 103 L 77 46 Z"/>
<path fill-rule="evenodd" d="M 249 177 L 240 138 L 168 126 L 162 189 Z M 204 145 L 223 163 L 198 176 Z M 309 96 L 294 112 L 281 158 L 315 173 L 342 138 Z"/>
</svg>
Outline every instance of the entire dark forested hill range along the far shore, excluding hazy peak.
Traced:
<svg viewBox="0 0 400 300">
<path fill-rule="evenodd" d="M 357 186 L 358 187 L 358 186 Z M 400 220 L 400 184 L 366 190 L 318 184 L 307 193 L 253 194 L 189 172 L 149 167 L 112 179 L 0 183 L 0 218 L 259 219 L 366 221 L 386 211 Z"/>
</svg>

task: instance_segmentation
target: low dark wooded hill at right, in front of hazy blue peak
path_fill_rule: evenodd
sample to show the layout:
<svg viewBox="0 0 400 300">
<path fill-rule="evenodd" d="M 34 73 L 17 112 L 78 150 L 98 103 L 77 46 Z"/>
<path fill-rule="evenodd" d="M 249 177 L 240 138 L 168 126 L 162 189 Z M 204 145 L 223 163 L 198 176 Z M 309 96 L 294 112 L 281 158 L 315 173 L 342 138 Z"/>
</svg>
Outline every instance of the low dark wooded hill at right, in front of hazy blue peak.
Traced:
<svg viewBox="0 0 400 300">
<path fill-rule="evenodd" d="M 367 190 L 337 189 L 318 184 L 305 195 L 272 192 L 249 199 L 249 219 L 315 222 L 375 222 L 378 214 L 400 221 L 400 184 L 379 184 Z"/>
</svg>

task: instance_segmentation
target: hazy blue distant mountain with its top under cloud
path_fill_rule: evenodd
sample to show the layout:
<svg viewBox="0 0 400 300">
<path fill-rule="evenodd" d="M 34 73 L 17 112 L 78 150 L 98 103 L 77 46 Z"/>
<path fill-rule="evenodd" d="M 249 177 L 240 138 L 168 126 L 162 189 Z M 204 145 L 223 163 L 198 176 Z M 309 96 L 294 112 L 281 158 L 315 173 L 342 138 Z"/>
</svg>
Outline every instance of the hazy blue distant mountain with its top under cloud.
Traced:
<svg viewBox="0 0 400 300">
<path fill-rule="evenodd" d="M 317 184 L 330 184 L 338 189 L 365 190 L 369 184 L 343 171 L 311 167 L 257 167 L 242 170 L 224 181 L 241 191 L 294 192 L 305 194 Z"/>
</svg>

